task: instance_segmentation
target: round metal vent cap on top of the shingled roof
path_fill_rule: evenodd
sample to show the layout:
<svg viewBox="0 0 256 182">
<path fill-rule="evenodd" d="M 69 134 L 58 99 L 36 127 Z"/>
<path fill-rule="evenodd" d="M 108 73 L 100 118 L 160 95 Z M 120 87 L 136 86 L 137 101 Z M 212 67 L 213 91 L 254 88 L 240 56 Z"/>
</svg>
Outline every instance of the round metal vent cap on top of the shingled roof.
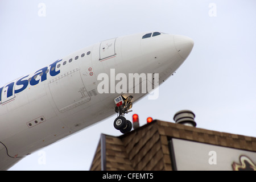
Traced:
<svg viewBox="0 0 256 182">
<path fill-rule="evenodd" d="M 177 124 L 196 127 L 195 117 L 196 115 L 191 110 L 181 110 L 174 115 L 174 121 Z"/>
</svg>

